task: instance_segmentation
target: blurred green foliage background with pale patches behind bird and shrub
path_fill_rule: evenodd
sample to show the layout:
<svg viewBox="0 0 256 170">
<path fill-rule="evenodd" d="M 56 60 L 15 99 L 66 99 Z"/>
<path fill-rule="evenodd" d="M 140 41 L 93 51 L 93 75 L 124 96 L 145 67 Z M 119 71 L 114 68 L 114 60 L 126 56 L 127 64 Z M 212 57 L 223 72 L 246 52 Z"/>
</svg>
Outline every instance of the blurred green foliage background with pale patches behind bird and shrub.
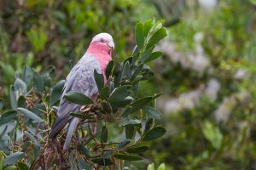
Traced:
<svg viewBox="0 0 256 170">
<path fill-rule="evenodd" d="M 54 65 L 58 82 L 97 33 L 113 35 L 123 60 L 136 23 L 164 19 L 164 55 L 139 93 L 163 92 L 156 105 L 167 133 L 137 169 L 256 169 L 255 11 L 255 0 L 1 0 L 0 98 L 23 65 Z"/>
</svg>

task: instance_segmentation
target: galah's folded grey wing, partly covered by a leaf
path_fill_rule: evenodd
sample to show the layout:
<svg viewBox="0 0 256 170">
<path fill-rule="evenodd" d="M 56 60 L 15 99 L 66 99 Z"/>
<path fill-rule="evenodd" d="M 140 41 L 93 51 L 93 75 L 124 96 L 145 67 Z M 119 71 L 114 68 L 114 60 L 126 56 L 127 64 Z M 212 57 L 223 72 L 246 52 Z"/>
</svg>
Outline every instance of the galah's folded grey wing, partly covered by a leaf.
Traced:
<svg viewBox="0 0 256 170">
<path fill-rule="evenodd" d="M 92 97 L 97 94 L 98 89 L 94 79 L 95 69 L 98 73 L 102 73 L 99 62 L 90 55 L 84 55 L 84 57 L 79 60 L 79 63 L 74 65 L 72 71 L 70 71 L 63 88 L 58 117 L 52 126 L 51 133 L 49 134 L 50 138 L 55 138 L 61 129 L 71 121 L 71 112 L 77 112 L 80 110 L 81 105 L 73 104 L 65 99 L 64 95 L 67 92 L 75 91 L 88 97 Z"/>
</svg>

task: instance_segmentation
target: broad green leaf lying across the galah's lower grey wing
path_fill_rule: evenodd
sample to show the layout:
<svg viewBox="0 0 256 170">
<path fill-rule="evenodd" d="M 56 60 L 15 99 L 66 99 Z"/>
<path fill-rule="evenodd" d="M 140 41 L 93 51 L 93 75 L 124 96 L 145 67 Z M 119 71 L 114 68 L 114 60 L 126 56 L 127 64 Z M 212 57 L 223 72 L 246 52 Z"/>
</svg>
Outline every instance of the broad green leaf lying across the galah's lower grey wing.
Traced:
<svg viewBox="0 0 256 170">
<path fill-rule="evenodd" d="M 67 94 L 65 94 L 64 96 L 68 101 L 77 105 L 93 104 L 93 101 L 89 97 L 84 94 L 80 94 L 79 92 L 67 92 Z"/>
</svg>

